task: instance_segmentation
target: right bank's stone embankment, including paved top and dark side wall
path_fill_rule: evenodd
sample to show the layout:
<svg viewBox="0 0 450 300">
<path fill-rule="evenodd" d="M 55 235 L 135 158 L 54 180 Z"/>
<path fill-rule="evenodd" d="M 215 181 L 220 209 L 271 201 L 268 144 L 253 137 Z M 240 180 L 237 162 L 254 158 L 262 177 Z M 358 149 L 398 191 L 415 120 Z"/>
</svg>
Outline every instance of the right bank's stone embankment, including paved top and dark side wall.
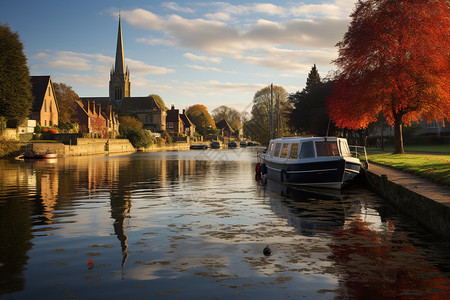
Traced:
<svg viewBox="0 0 450 300">
<path fill-rule="evenodd" d="M 371 164 L 367 185 L 428 229 L 450 240 L 450 188 L 401 171 Z"/>
</svg>

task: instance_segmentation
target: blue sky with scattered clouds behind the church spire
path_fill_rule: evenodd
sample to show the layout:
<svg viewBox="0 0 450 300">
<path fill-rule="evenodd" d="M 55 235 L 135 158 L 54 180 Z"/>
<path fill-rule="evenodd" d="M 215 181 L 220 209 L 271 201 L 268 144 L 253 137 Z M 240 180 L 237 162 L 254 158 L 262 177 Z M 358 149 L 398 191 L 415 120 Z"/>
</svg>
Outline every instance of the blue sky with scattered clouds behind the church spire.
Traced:
<svg viewBox="0 0 450 300">
<path fill-rule="evenodd" d="M 108 96 L 118 14 L 131 95 L 167 106 L 251 108 L 270 83 L 301 90 L 316 64 L 335 67 L 335 44 L 355 0 L 0 0 L 0 23 L 19 33 L 31 75 L 51 75 L 81 97 Z"/>
</svg>

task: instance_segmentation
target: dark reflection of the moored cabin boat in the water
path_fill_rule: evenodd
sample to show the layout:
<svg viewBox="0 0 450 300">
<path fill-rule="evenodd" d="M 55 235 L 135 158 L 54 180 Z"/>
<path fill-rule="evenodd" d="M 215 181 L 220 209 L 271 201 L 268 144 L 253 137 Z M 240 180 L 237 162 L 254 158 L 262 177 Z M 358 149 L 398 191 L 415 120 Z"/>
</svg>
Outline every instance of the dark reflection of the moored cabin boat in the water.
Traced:
<svg viewBox="0 0 450 300">
<path fill-rule="evenodd" d="M 272 210 L 305 236 L 342 229 L 355 205 L 345 203 L 339 190 L 330 193 L 329 189 L 299 189 L 268 181 L 265 192 Z"/>
</svg>

